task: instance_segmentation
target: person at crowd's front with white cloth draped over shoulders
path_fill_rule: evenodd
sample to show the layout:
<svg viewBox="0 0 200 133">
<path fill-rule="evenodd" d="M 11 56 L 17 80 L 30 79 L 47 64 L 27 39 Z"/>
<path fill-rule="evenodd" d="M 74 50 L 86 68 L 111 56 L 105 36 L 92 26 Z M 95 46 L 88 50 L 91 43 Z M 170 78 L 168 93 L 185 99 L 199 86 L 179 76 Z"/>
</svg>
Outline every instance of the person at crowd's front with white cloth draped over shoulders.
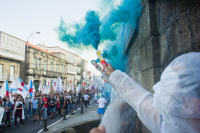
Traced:
<svg viewBox="0 0 200 133">
<path fill-rule="evenodd" d="M 24 125 L 23 123 L 23 119 L 24 119 L 24 109 L 23 109 L 23 104 L 22 102 L 20 101 L 20 98 L 18 97 L 17 98 L 17 101 L 15 103 L 15 108 L 14 108 L 14 120 L 15 120 L 15 126 L 17 126 L 17 118 L 19 117 L 20 119 L 20 123 L 21 123 L 21 126 L 22 127 Z"/>
</svg>

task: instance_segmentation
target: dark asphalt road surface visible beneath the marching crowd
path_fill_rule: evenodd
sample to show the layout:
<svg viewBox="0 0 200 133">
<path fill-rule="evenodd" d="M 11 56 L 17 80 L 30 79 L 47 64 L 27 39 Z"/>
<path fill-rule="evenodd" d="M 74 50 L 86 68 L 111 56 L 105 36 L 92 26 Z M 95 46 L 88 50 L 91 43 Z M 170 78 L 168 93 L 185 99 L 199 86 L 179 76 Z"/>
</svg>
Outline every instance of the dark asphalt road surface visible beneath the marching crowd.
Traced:
<svg viewBox="0 0 200 133">
<path fill-rule="evenodd" d="M 94 103 L 91 103 L 89 106 L 97 106 L 97 105 L 94 105 Z M 80 113 L 81 112 L 81 109 L 79 109 L 81 106 L 80 105 L 77 105 L 76 106 L 76 113 Z M 85 109 L 85 110 L 84 110 Z M 84 112 L 87 111 L 86 107 L 84 107 Z M 68 115 L 71 115 L 71 113 L 68 113 Z M 84 115 L 84 114 L 83 114 Z M 47 125 L 51 125 L 53 123 L 55 123 L 56 121 L 59 121 L 61 120 L 63 117 L 59 116 L 58 113 L 56 113 L 56 117 L 55 119 L 51 119 L 51 118 L 48 118 L 47 119 Z M 20 127 L 20 122 L 18 121 L 17 122 L 17 127 L 15 128 L 12 128 L 12 127 L 5 127 L 3 128 L 2 131 L 0 131 L 1 133 L 38 133 L 40 130 L 43 129 L 43 124 L 35 124 L 33 123 L 34 121 L 34 118 L 29 118 L 28 120 L 24 121 L 24 126 L 23 127 Z M 14 126 L 14 122 L 11 122 L 11 125 Z"/>
</svg>

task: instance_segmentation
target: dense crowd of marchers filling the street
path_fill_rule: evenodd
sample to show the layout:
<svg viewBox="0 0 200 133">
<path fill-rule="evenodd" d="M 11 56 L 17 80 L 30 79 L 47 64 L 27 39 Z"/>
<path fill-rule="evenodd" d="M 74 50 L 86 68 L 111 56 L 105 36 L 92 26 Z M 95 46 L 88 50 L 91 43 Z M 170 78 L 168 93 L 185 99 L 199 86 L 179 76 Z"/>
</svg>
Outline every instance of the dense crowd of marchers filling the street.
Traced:
<svg viewBox="0 0 200 133">
<path fill-rule="evenodd" d="M 17 119 L 20 119 L 20 127 L 22 127 L 29 117 L 34 118 L 35 124 L 42 124 L 43 119 L 54 119 L 56 113 L 60 116 L 67 115 L 67 113 L 74 115 L 77 105 L 84 104 L 87 108 L 89 101 L 93 99 L 97 102 L 100 95 L 101 92 L 95 89 L 81 89 L 74 93 L 72 90 L 61 93 L 50 92 L 48 95 L 35 92 L 33 97 L 27 96 L 26 99 L 17 93 L 11 94 L 11 97 L 5 95 L 3 98 L 0 97 L 0 106 L 4 108 L 3 126 L 11 127 L 11 119 L 14 121 L 13 128 L 15 128 Z"/>
</svg>

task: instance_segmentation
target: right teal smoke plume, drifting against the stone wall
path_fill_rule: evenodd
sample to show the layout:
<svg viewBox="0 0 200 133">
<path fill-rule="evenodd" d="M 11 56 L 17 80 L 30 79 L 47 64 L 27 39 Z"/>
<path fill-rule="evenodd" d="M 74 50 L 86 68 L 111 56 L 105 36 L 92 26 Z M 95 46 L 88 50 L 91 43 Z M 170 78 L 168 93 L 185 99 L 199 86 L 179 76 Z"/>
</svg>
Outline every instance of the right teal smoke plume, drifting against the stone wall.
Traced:
<svg viewBox="0 0 200 133">
<path fill-rule="evenodd" d="M 140 0 L 122 0 L 121 4 L 111 9 L 102 20 L 100 35 L 101 40 L 106 41 L 102 55 L 115 69 L 121 71 L 126 69 L 127 59 L 123 54 L 125 42 L 125 38 L 122 37 L 123 24 L 129 24 L 135 29 L 141 9 Z"/>
</svg>

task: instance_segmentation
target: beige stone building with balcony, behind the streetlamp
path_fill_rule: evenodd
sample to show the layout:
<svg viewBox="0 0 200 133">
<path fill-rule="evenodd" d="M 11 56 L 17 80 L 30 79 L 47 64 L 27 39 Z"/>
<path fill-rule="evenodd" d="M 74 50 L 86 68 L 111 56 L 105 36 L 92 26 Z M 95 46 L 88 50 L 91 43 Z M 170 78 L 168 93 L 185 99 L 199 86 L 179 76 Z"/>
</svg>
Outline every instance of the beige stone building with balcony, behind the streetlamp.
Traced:
<svg viewBox="0 0 200 133">
<path fill-rule="evenodd" d="M 62 58 L 64 54 L 56 53 L 56 56 L 32 44 L 28 44 L 28 47 L 25 61 L 26 83 L 32 80 L 37 90 L 40 83 L 42 86 L 46 85 L 48 80 L 50 82 L 48 89 L 51 90 L 53 79 L 57 80 L 59 76 L 65 85 L 67 62 Z"/>
</svg>

